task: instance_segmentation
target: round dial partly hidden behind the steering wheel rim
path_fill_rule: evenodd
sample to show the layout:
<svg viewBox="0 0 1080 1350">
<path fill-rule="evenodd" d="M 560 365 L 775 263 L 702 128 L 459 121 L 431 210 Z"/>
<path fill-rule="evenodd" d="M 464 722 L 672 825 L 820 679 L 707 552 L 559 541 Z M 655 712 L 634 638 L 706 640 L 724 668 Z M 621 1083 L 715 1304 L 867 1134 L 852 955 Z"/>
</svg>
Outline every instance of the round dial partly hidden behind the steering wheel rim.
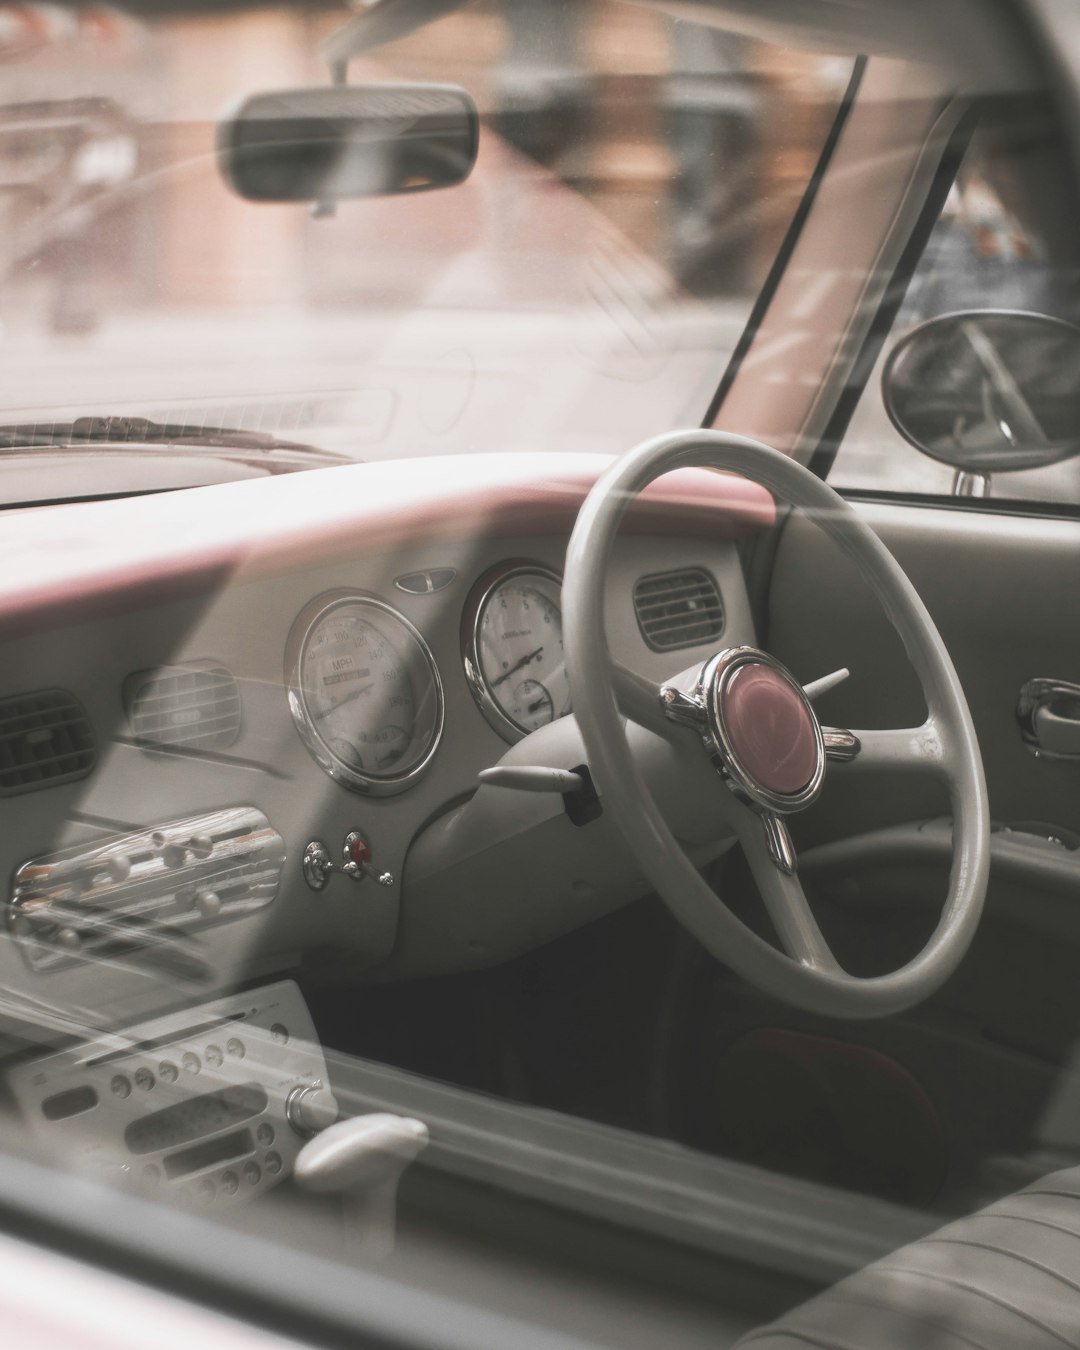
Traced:
<svg viewBox="0 0 1080 1350">
<path fill-rule="evenodd" d="M 473 590 L 464 614 L 473 697 L 509 741 L 570 711 L 562 580 L 536 563 L 506 563 Z"/>
</svg>

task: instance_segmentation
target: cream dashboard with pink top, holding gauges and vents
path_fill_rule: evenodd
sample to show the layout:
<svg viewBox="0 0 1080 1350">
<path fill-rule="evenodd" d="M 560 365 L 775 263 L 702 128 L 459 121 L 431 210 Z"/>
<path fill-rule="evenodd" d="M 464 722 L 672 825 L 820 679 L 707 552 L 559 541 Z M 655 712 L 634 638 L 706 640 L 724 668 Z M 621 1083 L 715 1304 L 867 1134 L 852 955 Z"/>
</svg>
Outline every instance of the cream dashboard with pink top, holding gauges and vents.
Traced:
<svg viewBox="0 0 1080 1350">
<path fill-rule="evenodd" d="M 644 891 L 601 809 L 479 787 L 583 755 L 562 644 L 606 460 L 359 464 L 12 512 L 0 1027 L 51 1041 L 310 969 L 494 964 Z M 771 498 L 670 475 L 609 567 L 613 656 L 752 640 Z M 558 860 L 558 865 L 555 865 Z"/>
</svg>

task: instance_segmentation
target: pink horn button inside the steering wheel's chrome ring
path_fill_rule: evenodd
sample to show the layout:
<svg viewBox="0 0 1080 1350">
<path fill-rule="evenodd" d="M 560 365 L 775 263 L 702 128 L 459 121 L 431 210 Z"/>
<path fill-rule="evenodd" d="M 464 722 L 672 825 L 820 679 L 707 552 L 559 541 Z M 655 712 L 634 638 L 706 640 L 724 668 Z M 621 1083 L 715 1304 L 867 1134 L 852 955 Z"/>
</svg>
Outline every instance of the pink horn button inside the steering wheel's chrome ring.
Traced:
<svg viewBox="0 0 1080 1350">
<path fill-rule="evenodd" d="M 818 764 L 813 714 L 771 666 L 740 666 L 721 691 L 721 714 L 740 764 L 763 788 L 801 792 Z"/>
</svg>

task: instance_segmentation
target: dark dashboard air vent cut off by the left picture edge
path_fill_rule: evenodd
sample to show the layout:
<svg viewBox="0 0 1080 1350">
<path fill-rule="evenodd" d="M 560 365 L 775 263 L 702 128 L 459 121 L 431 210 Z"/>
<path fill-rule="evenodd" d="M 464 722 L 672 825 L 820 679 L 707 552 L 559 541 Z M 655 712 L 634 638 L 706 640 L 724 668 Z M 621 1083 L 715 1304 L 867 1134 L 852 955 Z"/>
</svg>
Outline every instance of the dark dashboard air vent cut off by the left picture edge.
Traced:
<svg viewBox="0 0 1080 1350">
<path fill-rule="evenodd" d="M 61 688 L 0 699 L 0 796 L 85 778 L 97 751 L 78 699 Z"/>
</svg>

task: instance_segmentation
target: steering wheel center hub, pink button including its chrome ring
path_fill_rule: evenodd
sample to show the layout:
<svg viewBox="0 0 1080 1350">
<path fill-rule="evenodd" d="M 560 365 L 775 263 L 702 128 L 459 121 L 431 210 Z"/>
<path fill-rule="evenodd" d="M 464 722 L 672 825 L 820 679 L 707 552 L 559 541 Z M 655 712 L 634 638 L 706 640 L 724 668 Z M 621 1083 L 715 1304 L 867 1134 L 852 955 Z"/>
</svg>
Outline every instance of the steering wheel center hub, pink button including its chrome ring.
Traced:
<svg viewBox="0 0 1080 1350">
<path fill-rule="evenodd" d="M 794 675 L 767 652 L 734 647 L 706 663 L 699 697 L 714 759 L 752 805 L 787 814 L 818 795 L 821 726 Z"/>
</svg>

